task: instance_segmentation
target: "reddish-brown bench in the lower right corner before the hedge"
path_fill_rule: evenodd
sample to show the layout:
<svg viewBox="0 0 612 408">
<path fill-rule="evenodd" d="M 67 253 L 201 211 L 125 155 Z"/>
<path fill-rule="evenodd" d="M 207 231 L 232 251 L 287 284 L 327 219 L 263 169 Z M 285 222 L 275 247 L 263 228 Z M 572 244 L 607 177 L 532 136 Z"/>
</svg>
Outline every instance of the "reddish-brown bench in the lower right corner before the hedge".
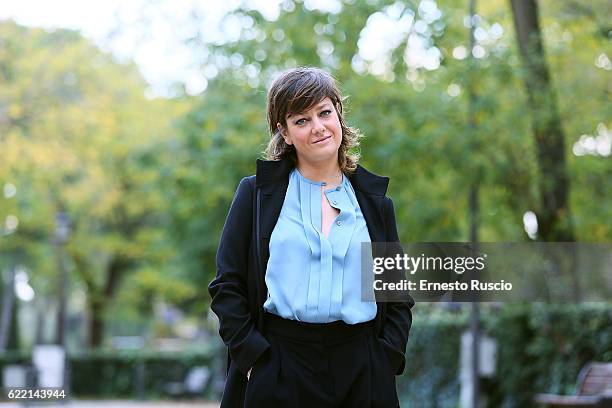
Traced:
<svg viewBox="0 0 612 408">
<path fill-rule="evenodd" d="M 537 394 L 547 407 L 612 407 L 612 363 L 589 363 L 578 374 L 576 395 Z"/>
</svg>

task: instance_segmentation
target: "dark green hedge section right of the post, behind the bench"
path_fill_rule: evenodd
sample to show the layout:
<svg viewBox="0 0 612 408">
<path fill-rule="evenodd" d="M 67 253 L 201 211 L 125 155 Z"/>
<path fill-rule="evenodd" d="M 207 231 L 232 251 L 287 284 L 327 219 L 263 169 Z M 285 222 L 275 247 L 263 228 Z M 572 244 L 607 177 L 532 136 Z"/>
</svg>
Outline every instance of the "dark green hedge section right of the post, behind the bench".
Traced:
<svg viewBox="0 0 612 408">
<path fill-rule="evenodd" d="M 491 407 L 532 405 L 536 393 L 570 395 L 580 369 L 612 361 L 609 304 L 505 307 L 487 320 L 498 341 Z"/>
</svg>

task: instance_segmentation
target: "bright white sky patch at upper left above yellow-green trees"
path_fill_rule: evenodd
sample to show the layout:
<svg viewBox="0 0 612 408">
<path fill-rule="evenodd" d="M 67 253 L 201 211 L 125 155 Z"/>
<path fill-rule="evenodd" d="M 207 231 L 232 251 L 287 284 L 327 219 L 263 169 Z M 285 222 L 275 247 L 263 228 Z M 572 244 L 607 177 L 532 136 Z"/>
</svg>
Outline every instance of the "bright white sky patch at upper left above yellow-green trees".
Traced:
<svg viewBox="0 0 612 408">
<path fill-rule="evenodd" d="M 186 23 L 197 10 L 199 29 L 210 40 L 232 35 L 221 30 L 222 16 L 240 5 L 240 0 L 2 0 L 0 19 L 11 18 L 22 25 L 47 29 L 79 30 L 101 49 L 120 61 L 133 60 L 151 85 L 152 96 L 163 96 L 175 82 L 183 82 L 191 94 L 206 88 L 206 79 L 193 50 L 184 44 L 189 36 Z M 278 1 L 248 0 L 266 18 L 278 14 Z M 235 33 L 234 33 L 235 34 Z"/>
</svg>

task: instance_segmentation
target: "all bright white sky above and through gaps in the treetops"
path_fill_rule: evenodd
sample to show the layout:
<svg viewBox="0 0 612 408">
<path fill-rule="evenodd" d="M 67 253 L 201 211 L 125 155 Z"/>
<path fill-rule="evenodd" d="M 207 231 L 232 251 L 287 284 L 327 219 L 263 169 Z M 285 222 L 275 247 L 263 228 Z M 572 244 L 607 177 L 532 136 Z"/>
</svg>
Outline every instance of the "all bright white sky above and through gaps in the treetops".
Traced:
<svg viewBox="0 0 612 408">
<path fill-rule="evenodd" d="M 281 3 L 281 0 L 2 0 L 0 19 L 12 18 L 32 27 L 79 30 L 120 61 L 136 62 L 150 84 L 147 94 L 153 97 L 171 94 L 172 85 L 177 82 L 184 83 L 190 94 L 206 89 L 202 61 L 196 60 L 197 53 L 185 45 L 185 39 L 193 36 L 194 29 L 209 42 L 237 39 L 238 24 L 221 24 L 228 11 L 245 4 L 258 9 L 268 20 L 274 20 Z M 305 6 L 341 11 L 339 0 L 305 0 Z M 196 25 L 193 11 L 197 13 Z M 359 57 L 353 61 L 353 68 L 356 72 L 369 69 L 375 75 L 383 75 L 392 49 L 412 30 L 406 62 L 437 69 L 440 52 L 428 47 L 418 28 L 424 21 L 434 22 L 441 14 L 433 0 L 419 2 L 421 20 L 416 22 L 414 13 L 403 13 L 403 6 L 397 4 L 375 13 L 361 33 Z"/>
</svg>

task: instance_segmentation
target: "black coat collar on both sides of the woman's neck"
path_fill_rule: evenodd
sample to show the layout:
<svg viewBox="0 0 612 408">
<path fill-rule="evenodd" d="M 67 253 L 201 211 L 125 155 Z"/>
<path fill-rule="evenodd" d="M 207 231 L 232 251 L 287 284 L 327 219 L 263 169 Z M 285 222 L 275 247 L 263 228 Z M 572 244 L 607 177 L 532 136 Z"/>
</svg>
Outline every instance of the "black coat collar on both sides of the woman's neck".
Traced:
<svg viewBox="0 0 612 408">
<path fill-rule="evenodd" d="M 257 160 L 256 184 L 261 187 L 265 184 L 280 183 L 287 180 L 291 170 L 295 167 L 290 157 L 278 161 Z M 378 176 L 369 172 L 361 165 L 348 176 L 353 188 L 367 194 L 384 196 L 389 186 L 389 178 Z"/>
</svg>

